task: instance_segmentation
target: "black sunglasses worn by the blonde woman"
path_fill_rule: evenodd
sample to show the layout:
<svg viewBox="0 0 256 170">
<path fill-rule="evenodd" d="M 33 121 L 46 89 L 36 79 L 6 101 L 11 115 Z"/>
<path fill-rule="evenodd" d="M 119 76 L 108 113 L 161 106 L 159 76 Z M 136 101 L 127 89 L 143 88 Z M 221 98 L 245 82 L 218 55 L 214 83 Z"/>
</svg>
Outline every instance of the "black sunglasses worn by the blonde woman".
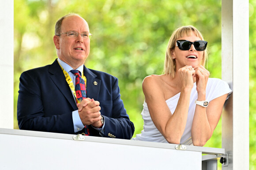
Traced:
<svg viewBox="0 0 256 170">
<path fill-rule="evenodd" d="M 188 40 L 177 40 L 176 41 L 177 46 L 180 50 L 189 50 L 191 45 L 193 44 L 197 51 L 204 51 L 207 46 L 207 41 L 188 41 Z"/>
</svg>

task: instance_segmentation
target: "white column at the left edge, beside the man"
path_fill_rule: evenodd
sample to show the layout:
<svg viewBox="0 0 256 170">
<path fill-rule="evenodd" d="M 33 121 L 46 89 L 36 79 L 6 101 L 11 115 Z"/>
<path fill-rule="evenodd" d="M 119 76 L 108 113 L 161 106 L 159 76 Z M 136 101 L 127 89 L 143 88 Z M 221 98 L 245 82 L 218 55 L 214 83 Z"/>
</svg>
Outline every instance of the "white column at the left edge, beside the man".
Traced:
<svg viewBox="0 0 256 170">
<path fill-rule="evenodd" d="M 13 0 L 0 0 L 0 128 L 13 129 Z"/>
</svg>

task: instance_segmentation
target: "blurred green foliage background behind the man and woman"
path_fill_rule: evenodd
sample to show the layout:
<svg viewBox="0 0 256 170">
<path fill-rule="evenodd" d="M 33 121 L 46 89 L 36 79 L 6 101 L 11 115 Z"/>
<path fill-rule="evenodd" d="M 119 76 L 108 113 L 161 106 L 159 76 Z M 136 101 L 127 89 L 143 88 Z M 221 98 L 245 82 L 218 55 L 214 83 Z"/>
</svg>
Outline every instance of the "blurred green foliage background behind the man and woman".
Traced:
<svg viewBox="0 0 256 170">
<path fill-rule="evenodd" d="M 254 170 L 256 1 L 250 0 L 249 6 L 250 169 Z M 19 129 L 16 119 L 19 76 L 57 58 L 54 25 L 68 13 L 85 18 L 93 34 L 85 65 L 118 77 L 121 98 L 135 124 L 134 137 L 143 129 L 142 81 L 148 75 L 162 73 L 167 43 L 174 29 L 194 25 L 201 31 L 210 47 L 206 67 L 211 77 L 221 78 L 221 0 L 14 0 L 15 129 Z M 221 120 L 205 146 L 221 148 Z"/>
</svg>

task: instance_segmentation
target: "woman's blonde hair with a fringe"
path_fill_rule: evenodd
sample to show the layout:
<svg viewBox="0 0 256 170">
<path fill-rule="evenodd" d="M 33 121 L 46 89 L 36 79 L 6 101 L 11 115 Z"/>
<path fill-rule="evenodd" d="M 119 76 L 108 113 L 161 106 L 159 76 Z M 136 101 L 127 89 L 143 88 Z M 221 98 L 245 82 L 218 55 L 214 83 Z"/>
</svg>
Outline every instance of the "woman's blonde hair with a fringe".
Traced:
<svg viewBox="0 0 256 170">
<path fill-rule="evenodd" d="M 183 37 L 183 36 L 190 36 L 191 32 L 194 32 L 197 37 L 199 37 L 201 40 L 203 40 L 202 34 L 192 25 L 188 26 L 182 26 L 180 28 L 177 28 L 173 31 L 172 36 L 170 37 L 167 50 L 166 50 L 166 58 L 165 58 L 165 64 L 164 64 L 164 73 L 171 75 L 173 78 L 175 76 L 176 72 L 176 61 L 175 59 L 172 59 L 171 51 L 174 50 L 176 47 L 176 40 Z M 205 62 L 207 60 L 208 53 L 207 48 L 205 51 L 203 51 L 203 59 L 200 63 L 200 65 L 205 65 Z"/>
</svg>

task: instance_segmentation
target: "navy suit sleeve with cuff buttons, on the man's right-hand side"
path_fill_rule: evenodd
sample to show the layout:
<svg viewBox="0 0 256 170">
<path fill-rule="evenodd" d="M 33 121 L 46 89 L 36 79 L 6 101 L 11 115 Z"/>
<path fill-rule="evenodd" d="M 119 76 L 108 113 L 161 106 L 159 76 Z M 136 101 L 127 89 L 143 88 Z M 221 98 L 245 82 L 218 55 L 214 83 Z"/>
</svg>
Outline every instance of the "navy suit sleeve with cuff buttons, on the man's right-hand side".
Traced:
<svg viewBox="0 0 256 170">
<path fill-rule="evenodd" d="M 105 116 L 105 137 L 115 137 L 119 139 L 131 139 L 134 133 L 134 125 L 130 121 L 124 103 L 120 98 L 120 89 L 118 87 L 118 79 L 113 83 L 112 87 L 112 113 L 111 116 Z"/>
</svg>

